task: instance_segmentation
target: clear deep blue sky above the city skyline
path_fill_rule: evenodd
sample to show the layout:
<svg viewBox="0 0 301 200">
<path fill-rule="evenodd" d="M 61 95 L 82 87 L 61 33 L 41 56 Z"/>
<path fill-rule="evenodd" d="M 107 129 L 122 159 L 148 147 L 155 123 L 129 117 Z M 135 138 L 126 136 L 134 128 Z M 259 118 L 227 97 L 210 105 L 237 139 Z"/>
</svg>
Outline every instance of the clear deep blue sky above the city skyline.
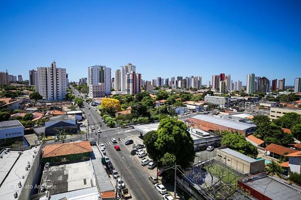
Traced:
<svg viewBox="0 0 301 200">
<path fill-rule="evenodd" d="M 1 1 L 0 71 L 128 62 L 142 79 L 301 76 L 301 1 Z"/>
</svg>

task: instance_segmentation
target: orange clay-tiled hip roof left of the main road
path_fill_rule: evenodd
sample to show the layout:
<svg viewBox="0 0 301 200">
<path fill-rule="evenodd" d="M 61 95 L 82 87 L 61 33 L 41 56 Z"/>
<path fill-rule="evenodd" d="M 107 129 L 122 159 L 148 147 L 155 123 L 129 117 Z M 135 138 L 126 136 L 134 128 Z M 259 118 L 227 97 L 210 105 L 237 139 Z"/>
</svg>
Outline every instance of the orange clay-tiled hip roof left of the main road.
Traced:
<svg viewBox="0 0 301 200">
<path fill-rule="evenodd" d="M 51 144 L 45 146 L 43 158 L 86 153 L 91 151 L 92 148 L 90 142 L 88 141 Z"/>
</svg>

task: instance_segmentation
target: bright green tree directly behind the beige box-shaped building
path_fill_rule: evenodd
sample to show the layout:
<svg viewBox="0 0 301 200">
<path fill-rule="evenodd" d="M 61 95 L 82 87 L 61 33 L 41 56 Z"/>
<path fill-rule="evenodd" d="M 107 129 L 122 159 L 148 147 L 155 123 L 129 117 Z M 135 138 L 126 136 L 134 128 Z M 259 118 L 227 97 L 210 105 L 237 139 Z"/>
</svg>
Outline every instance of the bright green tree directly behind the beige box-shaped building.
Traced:
<svg viewBox="0 0 301 200">
<path fill-rule="evenodd" d="M 251 142 L 246 141 L 244 136 L 239 133 L 226 134 L 222 138 L 221 144 L 252 158 L 256 158 L 258 155 L 257 148 Z"/>
</svg>

